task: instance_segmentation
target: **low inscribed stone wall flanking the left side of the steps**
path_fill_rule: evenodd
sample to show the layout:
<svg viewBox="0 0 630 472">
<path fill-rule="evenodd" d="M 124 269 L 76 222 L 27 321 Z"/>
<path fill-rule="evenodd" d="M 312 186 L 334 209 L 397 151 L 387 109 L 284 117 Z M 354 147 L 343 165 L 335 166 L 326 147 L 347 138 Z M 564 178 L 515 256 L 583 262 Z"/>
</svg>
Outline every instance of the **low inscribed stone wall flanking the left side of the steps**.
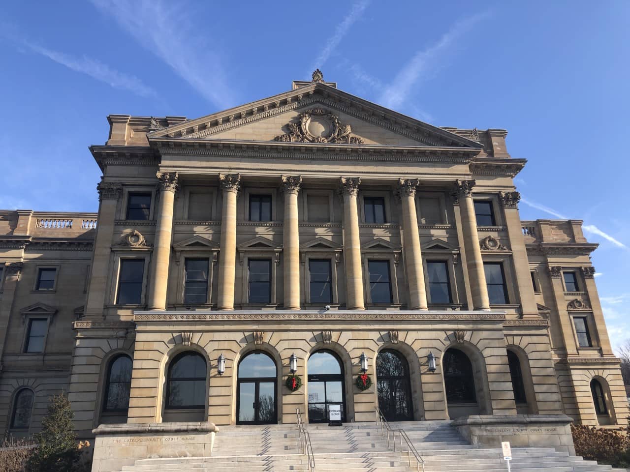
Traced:
<svg viewBox="0 0 630 472">
<path fill-rule="evenodd" d="M 106 424 L 96 435 L 92 472 L 120 471 L 138 459 L 212 456 L 214 423 Z"/>
</svg>

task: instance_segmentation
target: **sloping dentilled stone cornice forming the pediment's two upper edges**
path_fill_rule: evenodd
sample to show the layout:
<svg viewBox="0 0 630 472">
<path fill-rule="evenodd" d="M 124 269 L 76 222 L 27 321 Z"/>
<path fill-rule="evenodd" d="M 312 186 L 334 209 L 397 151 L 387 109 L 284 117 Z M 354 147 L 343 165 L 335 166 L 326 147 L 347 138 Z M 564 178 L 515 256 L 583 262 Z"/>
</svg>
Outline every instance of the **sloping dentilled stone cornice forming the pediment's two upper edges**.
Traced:
<svg viewBox="0 0 630 472">
<path fill-rule="evenodd" d="M 341 91 L 321 82 L 202 116 L 147 133 L 147 138 L 202 138 L 268 116 L 308 106 L 315 101 L 365 121 L 384 126 L 432 146 L 481 150 L 483 145 L 438 126 L 429 125 L 397 111 Z"/>
</svg>

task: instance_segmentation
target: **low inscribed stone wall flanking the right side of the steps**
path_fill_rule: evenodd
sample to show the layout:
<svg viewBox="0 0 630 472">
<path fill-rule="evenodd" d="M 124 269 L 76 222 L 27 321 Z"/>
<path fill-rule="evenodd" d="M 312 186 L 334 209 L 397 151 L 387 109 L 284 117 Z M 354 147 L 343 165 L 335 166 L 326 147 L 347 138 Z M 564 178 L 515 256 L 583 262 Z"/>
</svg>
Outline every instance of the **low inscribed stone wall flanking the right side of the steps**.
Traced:
<svg viewBox="0 0 630 472">
<path fill-rule="evenodd" d="M 571 423 L 566 415 L 470 415 L 453 421 L 460 434 L 480 447 L 555 447 L 575 456 Z"/>
</svg>

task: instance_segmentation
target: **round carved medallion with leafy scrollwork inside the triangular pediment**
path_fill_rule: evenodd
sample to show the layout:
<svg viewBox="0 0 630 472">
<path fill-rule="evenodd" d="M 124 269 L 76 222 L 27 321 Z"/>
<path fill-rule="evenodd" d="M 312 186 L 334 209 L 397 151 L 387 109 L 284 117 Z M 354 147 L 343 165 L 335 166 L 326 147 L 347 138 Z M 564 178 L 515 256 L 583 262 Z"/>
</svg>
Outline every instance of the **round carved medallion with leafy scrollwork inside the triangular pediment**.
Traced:
<svg viewBox="0 0 630 472">
<path fill-rule="evenodd" d="M 299 123 L 287 123 L 289 133 L 275 137 L 290 143 L 363 144 L 352 136 L 350 125 L 341 125 L 339 118 L 325 108 L 312 108 L 298 116 Z"/>
</svg>

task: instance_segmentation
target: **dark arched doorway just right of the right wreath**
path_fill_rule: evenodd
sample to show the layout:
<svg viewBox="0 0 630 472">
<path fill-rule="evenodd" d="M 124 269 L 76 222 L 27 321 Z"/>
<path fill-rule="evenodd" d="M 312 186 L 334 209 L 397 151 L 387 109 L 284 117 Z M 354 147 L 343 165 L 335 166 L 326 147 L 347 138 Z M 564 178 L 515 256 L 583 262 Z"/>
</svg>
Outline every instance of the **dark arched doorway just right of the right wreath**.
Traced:
<svg viewBox="0 0 630 472">
<path fill-rule="evenodd" d="M 413 421 L 409 364 L 398 351 L 385 349 L 376 357 L 379 410 L 387 421 Z"/>
</svg>

